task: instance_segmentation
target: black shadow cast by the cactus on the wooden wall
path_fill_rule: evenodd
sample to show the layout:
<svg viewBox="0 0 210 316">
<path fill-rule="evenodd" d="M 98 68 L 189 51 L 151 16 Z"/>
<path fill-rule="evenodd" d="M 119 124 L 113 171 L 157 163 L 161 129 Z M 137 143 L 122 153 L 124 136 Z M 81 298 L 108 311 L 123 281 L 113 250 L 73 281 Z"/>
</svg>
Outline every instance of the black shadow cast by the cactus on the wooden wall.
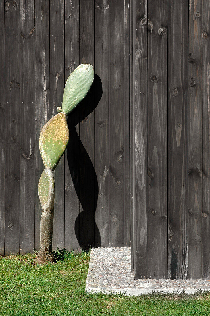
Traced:
<svg viewBox="0 0 210 316">
<path fill-rule="evenodd" d="M 76 132 L 76 125 L 81 121 L 86 124 L 87 116 L 96 108 L 101 96 L 102 83 L 100 77 L 94 74 L 92 87 L 67 119 L 69 127 L 67 160 L 75 191 L 82 207 L 82 211 L 80 210 L 75 221 L 75 235 L 83 250 L 94 246 L 95 241 L 99 247 L 101 245 L 99 229 L 94 221 L 99 186 L 92 161 Z M 86 137 L 88 137 L 88 131 Z M 93 139 L 87 139 L 88 142 L 94 144 Z"/>
</svg>

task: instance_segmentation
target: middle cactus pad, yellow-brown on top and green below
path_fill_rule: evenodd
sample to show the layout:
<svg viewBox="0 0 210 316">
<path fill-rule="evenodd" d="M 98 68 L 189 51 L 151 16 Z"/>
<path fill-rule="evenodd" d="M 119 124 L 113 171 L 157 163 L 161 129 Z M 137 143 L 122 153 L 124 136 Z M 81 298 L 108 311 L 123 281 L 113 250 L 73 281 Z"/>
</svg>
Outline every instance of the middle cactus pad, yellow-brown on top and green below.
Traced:
<svg viewBox="0 0 210 316">
<path fill-rule="evenodd" d="M 69 141 L 66 115 L 60 112 L 43 127 L 39 136 L 39 150 L 45 168 L 55 169 Z"/>
</svg>

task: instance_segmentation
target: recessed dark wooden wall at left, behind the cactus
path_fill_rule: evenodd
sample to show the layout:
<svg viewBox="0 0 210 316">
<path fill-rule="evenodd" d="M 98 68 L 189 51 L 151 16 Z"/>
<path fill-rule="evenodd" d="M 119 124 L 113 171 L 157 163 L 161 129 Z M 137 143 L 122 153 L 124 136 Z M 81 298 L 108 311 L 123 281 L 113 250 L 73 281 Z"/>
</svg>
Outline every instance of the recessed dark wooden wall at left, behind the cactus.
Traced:
<svg viewBox="0 0 210 316">
<path fill-rule="evenodd" d="M 68 118 L 53 249 L 130 245 L 129 0 L 0 3 L 0 253 L 39 249 L 42 126 L 81 63 L 90 93 Z"/>
</svg>

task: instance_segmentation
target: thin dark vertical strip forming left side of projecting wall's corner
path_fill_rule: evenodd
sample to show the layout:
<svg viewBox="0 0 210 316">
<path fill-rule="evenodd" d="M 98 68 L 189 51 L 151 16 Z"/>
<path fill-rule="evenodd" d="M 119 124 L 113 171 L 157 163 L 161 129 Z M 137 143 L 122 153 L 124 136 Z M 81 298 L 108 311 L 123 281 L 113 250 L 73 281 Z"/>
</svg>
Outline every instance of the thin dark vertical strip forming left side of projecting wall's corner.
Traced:
<svg viewBox="0 0 210 316">
<path fill-rule="evenodd" d="M 134 60 L 134 49 L 133 49 L 133 1 L 129 0 L 129 76 L 130 76 L 130 87 L 129 87 L 129 107 L 130 107 L 130 247 L 131 247 L 131 272 L 134 270 L 134 252 L 133 252 L 133 60 Z"/>
</svg>

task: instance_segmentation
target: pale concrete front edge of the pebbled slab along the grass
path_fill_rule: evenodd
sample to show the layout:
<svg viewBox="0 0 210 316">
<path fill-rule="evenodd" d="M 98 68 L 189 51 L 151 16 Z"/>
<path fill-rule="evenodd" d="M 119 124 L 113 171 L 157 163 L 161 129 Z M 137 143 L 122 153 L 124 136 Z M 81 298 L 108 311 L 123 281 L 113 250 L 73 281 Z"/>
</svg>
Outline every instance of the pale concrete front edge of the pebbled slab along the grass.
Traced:
<svg viewBox="0 0 210 316">
<path fill-rule="evenodd" d="M 210 291 L 210 288 L 208 289 L 106 289 L 106 290 L 100 290 L 97 288 L 91 288 L 91 287 L 85 287 L 85 293 L 87 294 L 124 294 L 126 296 L 139 296 L 139 295 L 144 295 L 144 294 L 166 294 L 166 293 L 174 293 L 174 294 L 194 294 L 196 292 L 207 292 Z"/>
</svg>

